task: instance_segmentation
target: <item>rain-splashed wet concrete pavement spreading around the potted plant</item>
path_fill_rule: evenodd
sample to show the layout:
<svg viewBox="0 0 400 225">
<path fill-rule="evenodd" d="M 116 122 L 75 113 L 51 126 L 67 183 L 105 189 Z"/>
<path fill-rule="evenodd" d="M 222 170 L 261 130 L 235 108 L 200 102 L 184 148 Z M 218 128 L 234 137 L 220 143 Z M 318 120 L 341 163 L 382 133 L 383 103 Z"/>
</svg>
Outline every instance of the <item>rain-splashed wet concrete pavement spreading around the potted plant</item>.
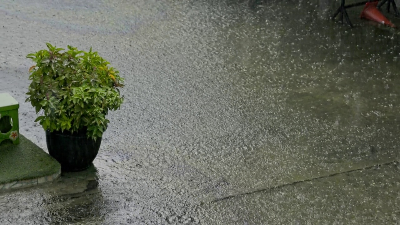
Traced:
<svg viewBox="0 0 400 225">
<path fill-rule="evenodd" d="M 4 0 L 0 90 L 20 102 L 24 136 L 47 151 L 34 109 L 23 103 L 31 66 L 24 57 L 45 42 L 92 46 L 126 78 L 126 100 L 108 117 L 93 168 L 0 194 L 0 223 L 302 224 L 338 213 L 346 216 L 337 223 L 398 221 L 399 173 L 391 162 L 400 145 L 399 33 L 358 20 L 362 8 L 348 11 L 351 29 L 327 19 L 328 6 L 338 7 Z M 328 183 L 282 186 L 385 163 Z M 368 189 L 374 176 L 387 193 Z M 333 194 L 313 200 L 307 190 Z M 391 207 L 377 211 L 386 198 Z M 301 218 L 285 214 L 302 208 Z"/>
</svg>

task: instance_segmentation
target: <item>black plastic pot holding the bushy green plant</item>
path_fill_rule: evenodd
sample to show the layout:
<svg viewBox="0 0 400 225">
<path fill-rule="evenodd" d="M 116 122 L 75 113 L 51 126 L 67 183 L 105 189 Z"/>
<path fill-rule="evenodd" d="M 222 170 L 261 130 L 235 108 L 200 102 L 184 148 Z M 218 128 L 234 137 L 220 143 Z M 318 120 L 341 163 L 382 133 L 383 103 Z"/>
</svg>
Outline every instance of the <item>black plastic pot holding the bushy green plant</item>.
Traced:
<svg viewBox="0 0 400 225">
<path fill-rule="evenodd" d="M 49 155 L 60 164 L 62 172 L 76 172 L 87 169 L 96 158 L 101 138 L 96 141 L 86 137 L 86 131 L 46 131 L 46 144 Z"/>
</svg>

